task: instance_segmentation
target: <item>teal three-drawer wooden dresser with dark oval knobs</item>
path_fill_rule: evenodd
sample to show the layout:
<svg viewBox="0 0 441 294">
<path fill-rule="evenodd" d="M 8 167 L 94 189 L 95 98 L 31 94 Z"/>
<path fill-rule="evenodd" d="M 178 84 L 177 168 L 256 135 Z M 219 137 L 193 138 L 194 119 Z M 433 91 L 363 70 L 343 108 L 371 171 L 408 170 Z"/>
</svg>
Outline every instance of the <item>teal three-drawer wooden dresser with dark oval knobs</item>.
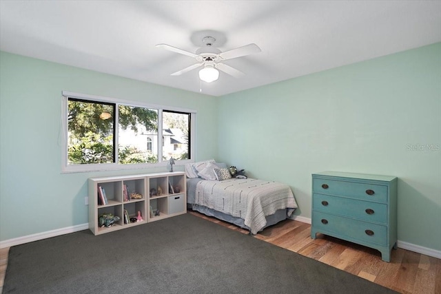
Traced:
<svg viewBox="0 0 441 294">
<path fill-rule="evenodd" d="M 312 175 L 311 238 L 316 233 L 380 251 L 397 243 L 397 178 L 325 171 Z"/>
</svg>

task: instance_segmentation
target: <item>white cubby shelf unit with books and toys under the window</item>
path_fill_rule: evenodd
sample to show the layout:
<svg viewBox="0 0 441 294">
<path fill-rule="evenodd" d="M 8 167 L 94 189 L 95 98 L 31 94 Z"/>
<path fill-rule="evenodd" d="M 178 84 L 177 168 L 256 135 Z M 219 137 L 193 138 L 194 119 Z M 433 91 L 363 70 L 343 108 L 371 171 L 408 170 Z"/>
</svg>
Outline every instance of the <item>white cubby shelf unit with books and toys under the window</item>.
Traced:
<svg viewBox="0 0 441 294">
<path fill-rule="evenodd" d="M 182 171 L 89 178 L 89 229 L 99 235 L 186 213 L 186 186 Z M 101 200 L 100 188 L 106 204 Z M 100 227 L 99 217 L 105 213 L 119 220 L 110 227 Z M 137 218 L 139 213 L 142 220 L 131 222 L 130 218 Z"/>
</svg>

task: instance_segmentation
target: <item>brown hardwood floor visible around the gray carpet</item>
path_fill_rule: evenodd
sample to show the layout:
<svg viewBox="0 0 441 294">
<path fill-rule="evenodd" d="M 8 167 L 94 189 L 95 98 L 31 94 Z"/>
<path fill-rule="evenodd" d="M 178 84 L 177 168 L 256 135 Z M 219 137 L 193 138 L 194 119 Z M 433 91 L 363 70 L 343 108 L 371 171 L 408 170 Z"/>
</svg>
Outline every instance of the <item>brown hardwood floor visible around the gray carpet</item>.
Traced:
<svg viewBox="0 0 441 294">
<path fill-rule="evenodd" d="M 190 211 L 241 233 L 248 233 L 233 224 Z M 441 260 L 427 255 L 397 249 L 391 262 L 382 262 L 380 252 L 325 235 L 311 239 L 310 224 L 285 220 L 258 233 L 254 238 L 314 258 L 337 269 L 391 288 L 399 293 L 441 294 Z M 0 293 L 8 265 L 9 248 L 0 249 Z"/>
</svg>

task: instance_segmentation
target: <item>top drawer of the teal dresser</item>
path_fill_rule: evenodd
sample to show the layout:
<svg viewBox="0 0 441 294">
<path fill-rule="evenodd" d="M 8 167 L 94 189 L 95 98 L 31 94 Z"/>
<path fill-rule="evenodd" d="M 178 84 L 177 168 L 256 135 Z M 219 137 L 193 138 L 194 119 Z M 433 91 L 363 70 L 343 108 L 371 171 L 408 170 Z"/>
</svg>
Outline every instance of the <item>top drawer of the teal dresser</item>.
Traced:
<svg viewBox="0 0 441 294">
<path fill-rule="evenodd" d="M 314 178 L 312 189 L 314 193 L 347 196 L 360 200 L 384 203 L 387 202 L 387 186 L 382 185 Z"/>
</svg>

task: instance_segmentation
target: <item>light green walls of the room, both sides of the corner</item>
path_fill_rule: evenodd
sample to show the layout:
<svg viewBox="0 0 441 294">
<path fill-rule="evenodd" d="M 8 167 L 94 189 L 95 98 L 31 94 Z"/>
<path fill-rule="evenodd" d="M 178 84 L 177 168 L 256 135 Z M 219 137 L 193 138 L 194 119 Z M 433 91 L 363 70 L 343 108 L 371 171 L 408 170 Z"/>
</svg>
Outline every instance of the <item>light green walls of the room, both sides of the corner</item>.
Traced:
<svg viewBox="0 0 441 294">
<path fill-rule="evenodd" d="M 63 90 L 196 109 L 196 160 L 287 183 L 305 218 L 313 172 L 397 176 L 398 239 L 441 250 L 441 149 L 409 150 L 441 145 L 441 43 L 220 98 L 0 52 L 1 241 L 88 222 L 87 178 L 158 171 L 61 174 Z"/>
</svg>

